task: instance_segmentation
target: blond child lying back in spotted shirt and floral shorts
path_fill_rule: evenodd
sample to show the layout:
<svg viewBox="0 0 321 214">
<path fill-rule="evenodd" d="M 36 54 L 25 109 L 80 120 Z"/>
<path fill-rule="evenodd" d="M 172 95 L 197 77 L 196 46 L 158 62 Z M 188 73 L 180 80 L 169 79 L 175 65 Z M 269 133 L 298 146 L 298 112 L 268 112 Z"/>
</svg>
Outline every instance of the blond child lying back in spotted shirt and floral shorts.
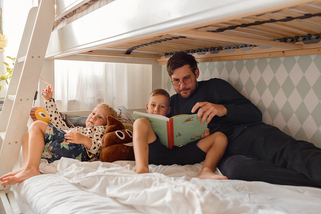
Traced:
<svg viewBox="0 0 321 214">
<path fill-rule="evenodd" d="M 94 161 L 99 159 L 101 138 L 105 133 L 107 116 L 118 119 L 117 112 L 106 103 L 100 103 L 91 112 L 86 120 L 86 127 L 68 128 L 61 119 L 53 99 L 53 91 L 49 87 L 45 98 L 47 113 L 50 117 L 50 125 L 37 120 L 31 124 L 22 136 L 22 154 L 24 166 L 14 172 L 0 177 L 1 185 L 22 182 L 32 176 L 39 175 L 41 159 L 49 163 L 62 157 L 77 159 L 80 161 Z"/>
</svg>

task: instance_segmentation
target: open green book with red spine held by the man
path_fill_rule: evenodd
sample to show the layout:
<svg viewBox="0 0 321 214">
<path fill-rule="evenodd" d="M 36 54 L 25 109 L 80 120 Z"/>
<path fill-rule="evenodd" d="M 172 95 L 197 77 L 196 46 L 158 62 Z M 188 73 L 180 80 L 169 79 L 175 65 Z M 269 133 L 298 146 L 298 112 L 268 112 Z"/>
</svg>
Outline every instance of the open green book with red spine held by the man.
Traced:
<svg viewBox="0 0 321 214">
<path fill-rule="evenodd" d="M 201 135 L 207 129 L 207 123 L 201 125 L 201 120 L 197 120 L 197 114 L 184 114 L 168 118 L 162 115 L 134 111 L 133 115 L 134 120 L 147 118 L 160 142 L 168 148 L 200 140 Z"/>
</svg>

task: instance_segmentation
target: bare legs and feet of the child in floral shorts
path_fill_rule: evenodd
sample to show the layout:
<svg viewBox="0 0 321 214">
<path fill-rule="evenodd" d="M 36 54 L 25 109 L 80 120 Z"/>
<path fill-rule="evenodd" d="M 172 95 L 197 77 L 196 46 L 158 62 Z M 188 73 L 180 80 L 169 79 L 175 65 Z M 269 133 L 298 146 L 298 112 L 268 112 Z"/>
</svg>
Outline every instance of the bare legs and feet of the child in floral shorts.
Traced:
<svg viewBox="0 0 321 214">
<path fill-rule="evenodd" d="M 26 143 L 26 135 L 22 137 L 22 152 L 25 159 L 24 166 L 17 171 L 2 176 L 1 185 L 19 183 L 30 177 L 40 174 L 39 165 L 42 152 L 45 146 L 45 133 L 47 126 L 47 123 L 39 120 L 31 124 L 29 128 L 29 142 Z M 28 153 L 26 152 L 26 146 L 28 148 Z"/>
</svg>

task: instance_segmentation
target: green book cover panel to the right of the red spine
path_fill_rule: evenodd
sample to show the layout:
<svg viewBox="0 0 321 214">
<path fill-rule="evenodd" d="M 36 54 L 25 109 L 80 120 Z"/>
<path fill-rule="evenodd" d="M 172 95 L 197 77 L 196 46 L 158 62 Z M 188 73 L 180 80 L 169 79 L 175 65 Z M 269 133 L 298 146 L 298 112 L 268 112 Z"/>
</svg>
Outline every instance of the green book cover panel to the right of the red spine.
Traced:
<svg viewBox="0 0 321 214">
<path fill-rule="evenodd" d="M 173 120 L 175 146 L 202 139 L 201 135 L 207 129 L 207 123 L 201 125 L 201 120 L 197 120 L 197 114 L 173 117 L 171 120 Z"/>
</svg>

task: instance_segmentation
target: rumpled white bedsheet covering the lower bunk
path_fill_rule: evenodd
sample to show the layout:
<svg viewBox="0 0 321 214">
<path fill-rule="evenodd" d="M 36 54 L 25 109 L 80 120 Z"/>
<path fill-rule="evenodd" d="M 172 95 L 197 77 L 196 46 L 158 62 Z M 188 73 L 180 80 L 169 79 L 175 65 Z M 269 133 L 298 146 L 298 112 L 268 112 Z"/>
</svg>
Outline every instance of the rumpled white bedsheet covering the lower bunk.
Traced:
<svg viewBox="0 0 321 214">
<path fill-rule="evenodd" d="M 321 189 L 195 177 L 202 164 L 44 160 L 44 173 L 13 185 L 23 213 L 320 213 Z"/>
</svg>

